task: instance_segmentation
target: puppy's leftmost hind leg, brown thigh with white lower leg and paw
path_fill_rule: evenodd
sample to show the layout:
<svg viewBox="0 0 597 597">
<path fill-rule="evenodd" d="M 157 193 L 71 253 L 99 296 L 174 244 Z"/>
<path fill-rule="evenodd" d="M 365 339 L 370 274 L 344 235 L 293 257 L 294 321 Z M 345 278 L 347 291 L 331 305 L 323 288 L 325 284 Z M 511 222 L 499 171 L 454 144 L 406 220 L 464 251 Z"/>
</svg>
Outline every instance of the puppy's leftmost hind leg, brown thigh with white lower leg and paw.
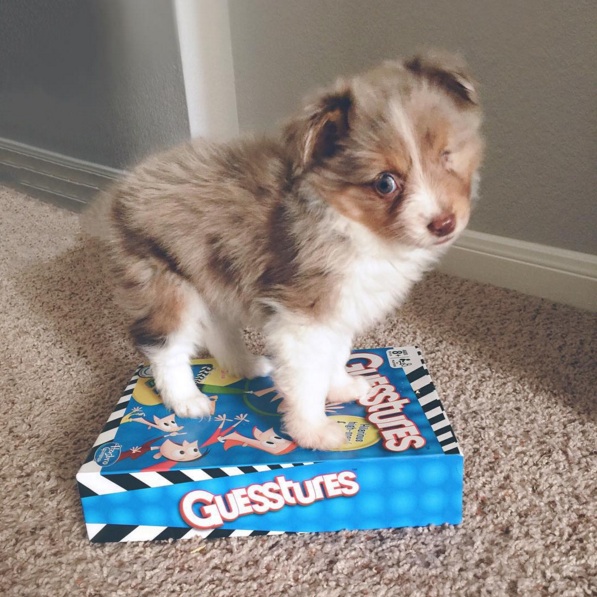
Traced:
<svg viewBox="0 0 597 597">
<path fill-rule="evenodd" d="M 153 302 L 132 326 L 137 346 L 148 358 L 164 405 L 179 417 L 210 415 L 210 400 L 195 385 L 190 359 L 202 345 L 207 308 L 196 290 L 172 272 L 153 281 Z"/>
</svg>

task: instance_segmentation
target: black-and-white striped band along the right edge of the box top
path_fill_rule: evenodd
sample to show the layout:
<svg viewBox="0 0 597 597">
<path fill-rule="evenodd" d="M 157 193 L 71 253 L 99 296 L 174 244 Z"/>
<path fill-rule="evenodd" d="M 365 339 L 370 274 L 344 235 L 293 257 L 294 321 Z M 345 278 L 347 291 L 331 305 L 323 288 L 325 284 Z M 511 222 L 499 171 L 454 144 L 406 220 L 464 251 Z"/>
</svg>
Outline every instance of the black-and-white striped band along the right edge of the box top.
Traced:
<svg viewBox="0 0 597 597">
<path fill-rule="evenodd" d="M 416 351 L 415 355 L 412 351 Z M 460 445 L 448 419 L 448 415 L 439 399 L 439 395 L 435 389 L 435 385 L 431 380 L 429 371 L 425 366 L 421 351 L 418 347 L 409 347 L 409 356 L 411 357 L 412 365 L 404 367 L 404 373 L 415 392 L 419 404 L 423 408 L 423 412 L 431 425 L 431 429 L 437 437 L 444 454 L 460 454 Z"/>
</svg>

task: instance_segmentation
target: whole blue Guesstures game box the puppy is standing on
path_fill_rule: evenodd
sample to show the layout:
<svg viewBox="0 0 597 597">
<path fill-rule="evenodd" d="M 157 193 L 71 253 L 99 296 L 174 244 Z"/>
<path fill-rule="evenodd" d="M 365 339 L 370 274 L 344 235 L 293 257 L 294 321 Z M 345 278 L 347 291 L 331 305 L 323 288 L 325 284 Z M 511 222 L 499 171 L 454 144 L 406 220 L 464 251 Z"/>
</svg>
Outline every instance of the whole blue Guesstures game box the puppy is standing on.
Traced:
<svg viewBox="0 0 597 597">
<path fill-rule="evenodd" d="M 195 360 L 212 416 L 182 419 L 139 367 L 77 473 L 90 540 L 459 523 L 462 453 L 419 350 L 356 350 L 347 370 L 371 390 L 328 406 L 346 442 L 318 452 L 281 431 L 270 378 L 234 378 L 213 359 Z"/>
</svg>

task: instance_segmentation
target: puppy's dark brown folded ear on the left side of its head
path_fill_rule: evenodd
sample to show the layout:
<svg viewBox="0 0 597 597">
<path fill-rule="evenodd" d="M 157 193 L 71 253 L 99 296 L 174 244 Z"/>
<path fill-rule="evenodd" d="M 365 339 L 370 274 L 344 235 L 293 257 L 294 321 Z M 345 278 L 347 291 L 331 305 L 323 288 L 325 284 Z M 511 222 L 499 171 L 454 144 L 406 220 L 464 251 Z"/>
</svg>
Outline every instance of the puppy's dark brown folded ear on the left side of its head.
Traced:
<svg viewBox="0 0 597 597">
<path fill-rule="evenodd" d="M 350 130 L 353 96 L 348 86 L 327 92 L 308 104 L 284 127 L 295 166 L 304 170 L 331 157 Z"/>
</svg>

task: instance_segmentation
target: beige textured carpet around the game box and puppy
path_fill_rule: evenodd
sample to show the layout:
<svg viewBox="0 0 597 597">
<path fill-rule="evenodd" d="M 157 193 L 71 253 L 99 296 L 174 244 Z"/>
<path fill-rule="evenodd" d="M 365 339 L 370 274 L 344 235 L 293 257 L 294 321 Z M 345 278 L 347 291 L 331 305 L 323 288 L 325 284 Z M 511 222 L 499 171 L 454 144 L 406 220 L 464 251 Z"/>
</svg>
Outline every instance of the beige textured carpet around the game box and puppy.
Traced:
<svg viewBox="0 0 597 597">
<path fill-rule="evenodd" d="M 75 473 L 139 356 L 77 233 L 0 188 L 0 594 L 597 594 L 597 319 L 439 274 L 359 345 L 423 348 L 461 526 L 90 544 Z"/>
</svg>

